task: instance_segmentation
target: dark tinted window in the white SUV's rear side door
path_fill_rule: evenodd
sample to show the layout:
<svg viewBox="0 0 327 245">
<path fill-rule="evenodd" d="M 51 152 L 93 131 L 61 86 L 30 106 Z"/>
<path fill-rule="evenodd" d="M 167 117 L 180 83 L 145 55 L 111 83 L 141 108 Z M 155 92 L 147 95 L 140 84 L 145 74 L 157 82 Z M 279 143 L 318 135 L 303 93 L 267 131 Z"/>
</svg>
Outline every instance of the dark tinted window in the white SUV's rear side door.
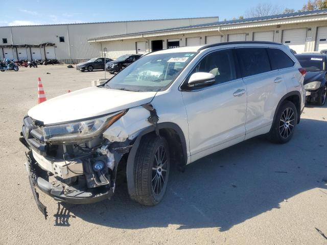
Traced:
<svg viewBox="0 0 327 245">
<path fill-rule="evenodd" d="M 242 77 L 253 76 L 271 70 L 266 48 L 237 48 Z"/>
</svg>

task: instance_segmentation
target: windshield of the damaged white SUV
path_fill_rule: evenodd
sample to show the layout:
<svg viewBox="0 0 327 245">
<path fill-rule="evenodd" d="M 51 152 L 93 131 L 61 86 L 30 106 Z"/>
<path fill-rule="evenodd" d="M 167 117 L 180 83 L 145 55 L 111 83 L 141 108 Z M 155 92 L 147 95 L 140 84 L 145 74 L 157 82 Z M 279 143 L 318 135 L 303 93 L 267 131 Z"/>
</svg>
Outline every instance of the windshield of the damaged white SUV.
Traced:
<svg viewBox="0 0 327 245">
<path fill-rule="evenodd" d="M 131 91 L 162 91 L 177 78 L 196 53 L 146 55 L 123 69 L 105 88 Z"/>
</svg>

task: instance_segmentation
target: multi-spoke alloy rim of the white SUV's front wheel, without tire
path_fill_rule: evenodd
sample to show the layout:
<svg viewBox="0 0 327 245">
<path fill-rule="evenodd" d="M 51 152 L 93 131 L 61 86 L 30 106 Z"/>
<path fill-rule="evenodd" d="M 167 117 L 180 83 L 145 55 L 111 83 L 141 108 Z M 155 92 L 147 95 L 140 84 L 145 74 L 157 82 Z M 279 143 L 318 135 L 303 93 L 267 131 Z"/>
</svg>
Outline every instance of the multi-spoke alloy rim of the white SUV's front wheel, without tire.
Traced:
<svg viewBox="0 0 327 245">
<path fill-rule="evenodd" d="M 154 154 L 152 167 L 152 191 L 155 195 L 160 194 L 166 185 L 167 176 L 167 152 L 164 146 L 160 145 Z"/>
</svg>

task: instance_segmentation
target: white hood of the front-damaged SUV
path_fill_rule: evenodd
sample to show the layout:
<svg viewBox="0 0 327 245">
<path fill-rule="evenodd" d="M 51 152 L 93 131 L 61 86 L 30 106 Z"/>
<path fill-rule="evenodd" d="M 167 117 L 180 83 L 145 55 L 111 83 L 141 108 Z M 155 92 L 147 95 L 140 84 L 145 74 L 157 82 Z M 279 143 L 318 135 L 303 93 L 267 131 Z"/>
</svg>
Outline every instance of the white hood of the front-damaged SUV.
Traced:
<svg viewBox="0 0 327 245">
<path fill-rule="evenodd" d="M 156 92 L 89 87 L 66 93 L 31 108 L 28 115 L 44 125 L 100 116 L 150 103 Z"/>
</svg>

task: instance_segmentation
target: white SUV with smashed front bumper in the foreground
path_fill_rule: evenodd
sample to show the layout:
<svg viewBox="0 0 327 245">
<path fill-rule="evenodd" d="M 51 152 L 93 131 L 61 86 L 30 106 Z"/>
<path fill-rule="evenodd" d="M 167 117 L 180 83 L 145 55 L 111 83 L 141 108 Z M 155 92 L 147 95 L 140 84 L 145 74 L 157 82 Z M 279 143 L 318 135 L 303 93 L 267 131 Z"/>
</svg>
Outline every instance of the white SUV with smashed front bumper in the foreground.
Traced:
<svg viewBox="0 0 327 245">
<path fill-rule="evenodd" d="M 41 103 L 21 142 L 34 186 L 67 203 L 163 198 L 169 172 L 257 135 L 286 143 L 305 105 L 305 70 L 285 45 L 228 42 L 150 53 L 102 86 Z"/>
</svg>

